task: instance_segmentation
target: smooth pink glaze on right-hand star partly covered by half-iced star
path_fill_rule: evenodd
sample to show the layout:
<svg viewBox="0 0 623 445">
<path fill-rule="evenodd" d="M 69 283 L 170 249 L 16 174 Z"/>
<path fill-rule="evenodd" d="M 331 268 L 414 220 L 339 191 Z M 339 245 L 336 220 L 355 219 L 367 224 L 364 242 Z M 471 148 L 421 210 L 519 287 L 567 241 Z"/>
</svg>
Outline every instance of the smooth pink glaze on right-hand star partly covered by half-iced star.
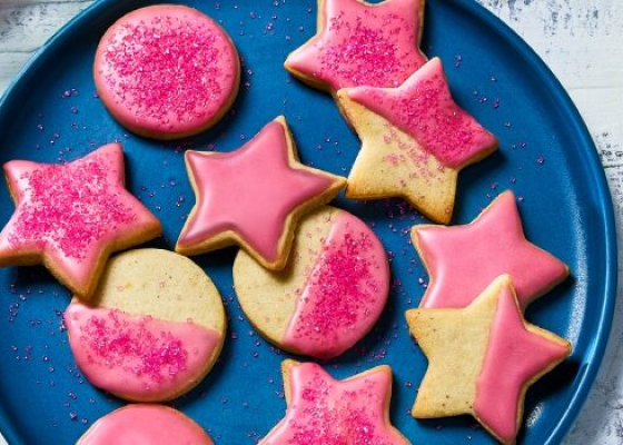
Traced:
<svg viewBox="0 0 623 445">
<path fill-rule="evenodd" d="M 567 275 L 563 263 L 525 239 L 512 191 L 472 224 L 415 227 L 414 237 L 431 275 L 419 307 L 466 307 L 494 278 L 508 274 L 525 308 Z"/>
</svg>

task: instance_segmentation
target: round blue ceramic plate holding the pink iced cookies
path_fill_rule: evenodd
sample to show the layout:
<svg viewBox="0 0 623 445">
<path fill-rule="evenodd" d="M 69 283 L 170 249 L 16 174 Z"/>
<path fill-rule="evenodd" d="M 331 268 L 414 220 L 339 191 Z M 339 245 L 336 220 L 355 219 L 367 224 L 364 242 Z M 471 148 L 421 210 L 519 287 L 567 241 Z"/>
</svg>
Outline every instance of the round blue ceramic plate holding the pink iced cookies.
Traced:
<svg viewBox="0 0 623 445">
<path fill-rule="evenodd" d="M 332 99 L 290 78 L 286 55 L 315 33 L 314 0 L 188 0 L 221 21 L 244 59 L 235 112 L 212 130 L 162 144 L 128 135 L 95 97 L 91 63 L 99 38 L 146 1 L 103 0 L 51 39 L 0 102 L 0 161 L 71 160 L 120 140 L 130 190 L 160 217 L 171 248 L 194 204 L 182 152 L 233 150 L 277 115 L 286 115 L 301 159 L 346 175 L 358 140 Z M 472 220 L 512 189 L 527 237 L 570 265 L 572 278 L 533 304 L 527 318 L 566 338 L 573 355 L 530 392 L 520 441 L 560 442 L 577 415 L 602 358 L 615 298 L 613 211 L 595 148 L 577 111 L 534 52 L 474 1 L 428 0 L 424 51 L 446 65 L 456 100 L 501 140 L 501 150 L 461 176 L 455 224 Z M 416 444 L 488 444 L 468 417 L 418 422 L 408 415 L 426 368 L 404 312 L 417 306 L 427 280 L 408 229 L 424 221 L 400 200 L 338 199 L 373 225 L 392 259 L 394 286 L 382 320 L 348 354 L 327 364 L 337 377 L 378 365 L 395 375 L 392 417 Z M 13 204 L 0 190 L 0 221 Z M 231 289 L 235 249 L 196 258 L 218 285 L 230 317 L 222 356 L 175 406 L 219 444 L 254 444 L 283 416 L 279 364 L 250 327 Z M 40 267 L 0 270 L 0 431 L 11 444 L 72 444 L 122 403 L 83 380 L 61 326 L 70 296 Z"/>
</svg>

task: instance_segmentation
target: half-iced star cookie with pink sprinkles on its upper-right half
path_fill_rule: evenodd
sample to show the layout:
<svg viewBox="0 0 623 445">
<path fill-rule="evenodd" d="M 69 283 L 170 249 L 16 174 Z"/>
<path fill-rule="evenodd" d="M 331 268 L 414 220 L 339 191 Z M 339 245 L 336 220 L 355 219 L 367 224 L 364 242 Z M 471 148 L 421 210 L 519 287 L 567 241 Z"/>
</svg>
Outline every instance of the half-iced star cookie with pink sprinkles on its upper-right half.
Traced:
<svg viewBox="0 0 623 445">
<path fill-rule="evenodd" d="M 363 142 L 346 196 L 399 196 L 448 224 L 458 171 L 488 156 L 497 140 L 454 102 L 441 60 L 432 59 L 398 88 L 344 88 L 337 98 Z"/>
</svg>

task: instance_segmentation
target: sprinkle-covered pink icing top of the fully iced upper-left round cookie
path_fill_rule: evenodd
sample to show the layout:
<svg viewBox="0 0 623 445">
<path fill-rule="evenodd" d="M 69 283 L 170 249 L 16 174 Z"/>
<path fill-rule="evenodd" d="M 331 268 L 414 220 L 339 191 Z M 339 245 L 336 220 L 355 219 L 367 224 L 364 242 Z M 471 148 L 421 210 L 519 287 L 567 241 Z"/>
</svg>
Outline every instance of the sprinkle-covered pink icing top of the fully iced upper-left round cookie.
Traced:
<svg viewBox="0 0 623 445">
<path fill-rule="evenodd" d="M 235 59 L 227 37 L 207 20 L 160 14 L 119 26 L 100 73 L 136 118 L 186 125 L 214 116 L 228 100 Z"/>
</svg>

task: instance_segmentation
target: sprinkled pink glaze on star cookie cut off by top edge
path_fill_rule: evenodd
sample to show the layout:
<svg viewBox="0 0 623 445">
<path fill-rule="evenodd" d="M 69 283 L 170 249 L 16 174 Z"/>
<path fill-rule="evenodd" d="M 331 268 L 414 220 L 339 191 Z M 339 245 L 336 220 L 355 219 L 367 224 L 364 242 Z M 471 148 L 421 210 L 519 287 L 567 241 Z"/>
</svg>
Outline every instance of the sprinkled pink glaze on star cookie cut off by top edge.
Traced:
<svg viewBox="0 0 623 445">
<path fill-rule="evenodd" d="M 326 83 L 345 87 L 397 87 L 426 62 L 419 51 L 423 0 L 325 0 L 325 26 L 286 66 Z"/>
</svg>

